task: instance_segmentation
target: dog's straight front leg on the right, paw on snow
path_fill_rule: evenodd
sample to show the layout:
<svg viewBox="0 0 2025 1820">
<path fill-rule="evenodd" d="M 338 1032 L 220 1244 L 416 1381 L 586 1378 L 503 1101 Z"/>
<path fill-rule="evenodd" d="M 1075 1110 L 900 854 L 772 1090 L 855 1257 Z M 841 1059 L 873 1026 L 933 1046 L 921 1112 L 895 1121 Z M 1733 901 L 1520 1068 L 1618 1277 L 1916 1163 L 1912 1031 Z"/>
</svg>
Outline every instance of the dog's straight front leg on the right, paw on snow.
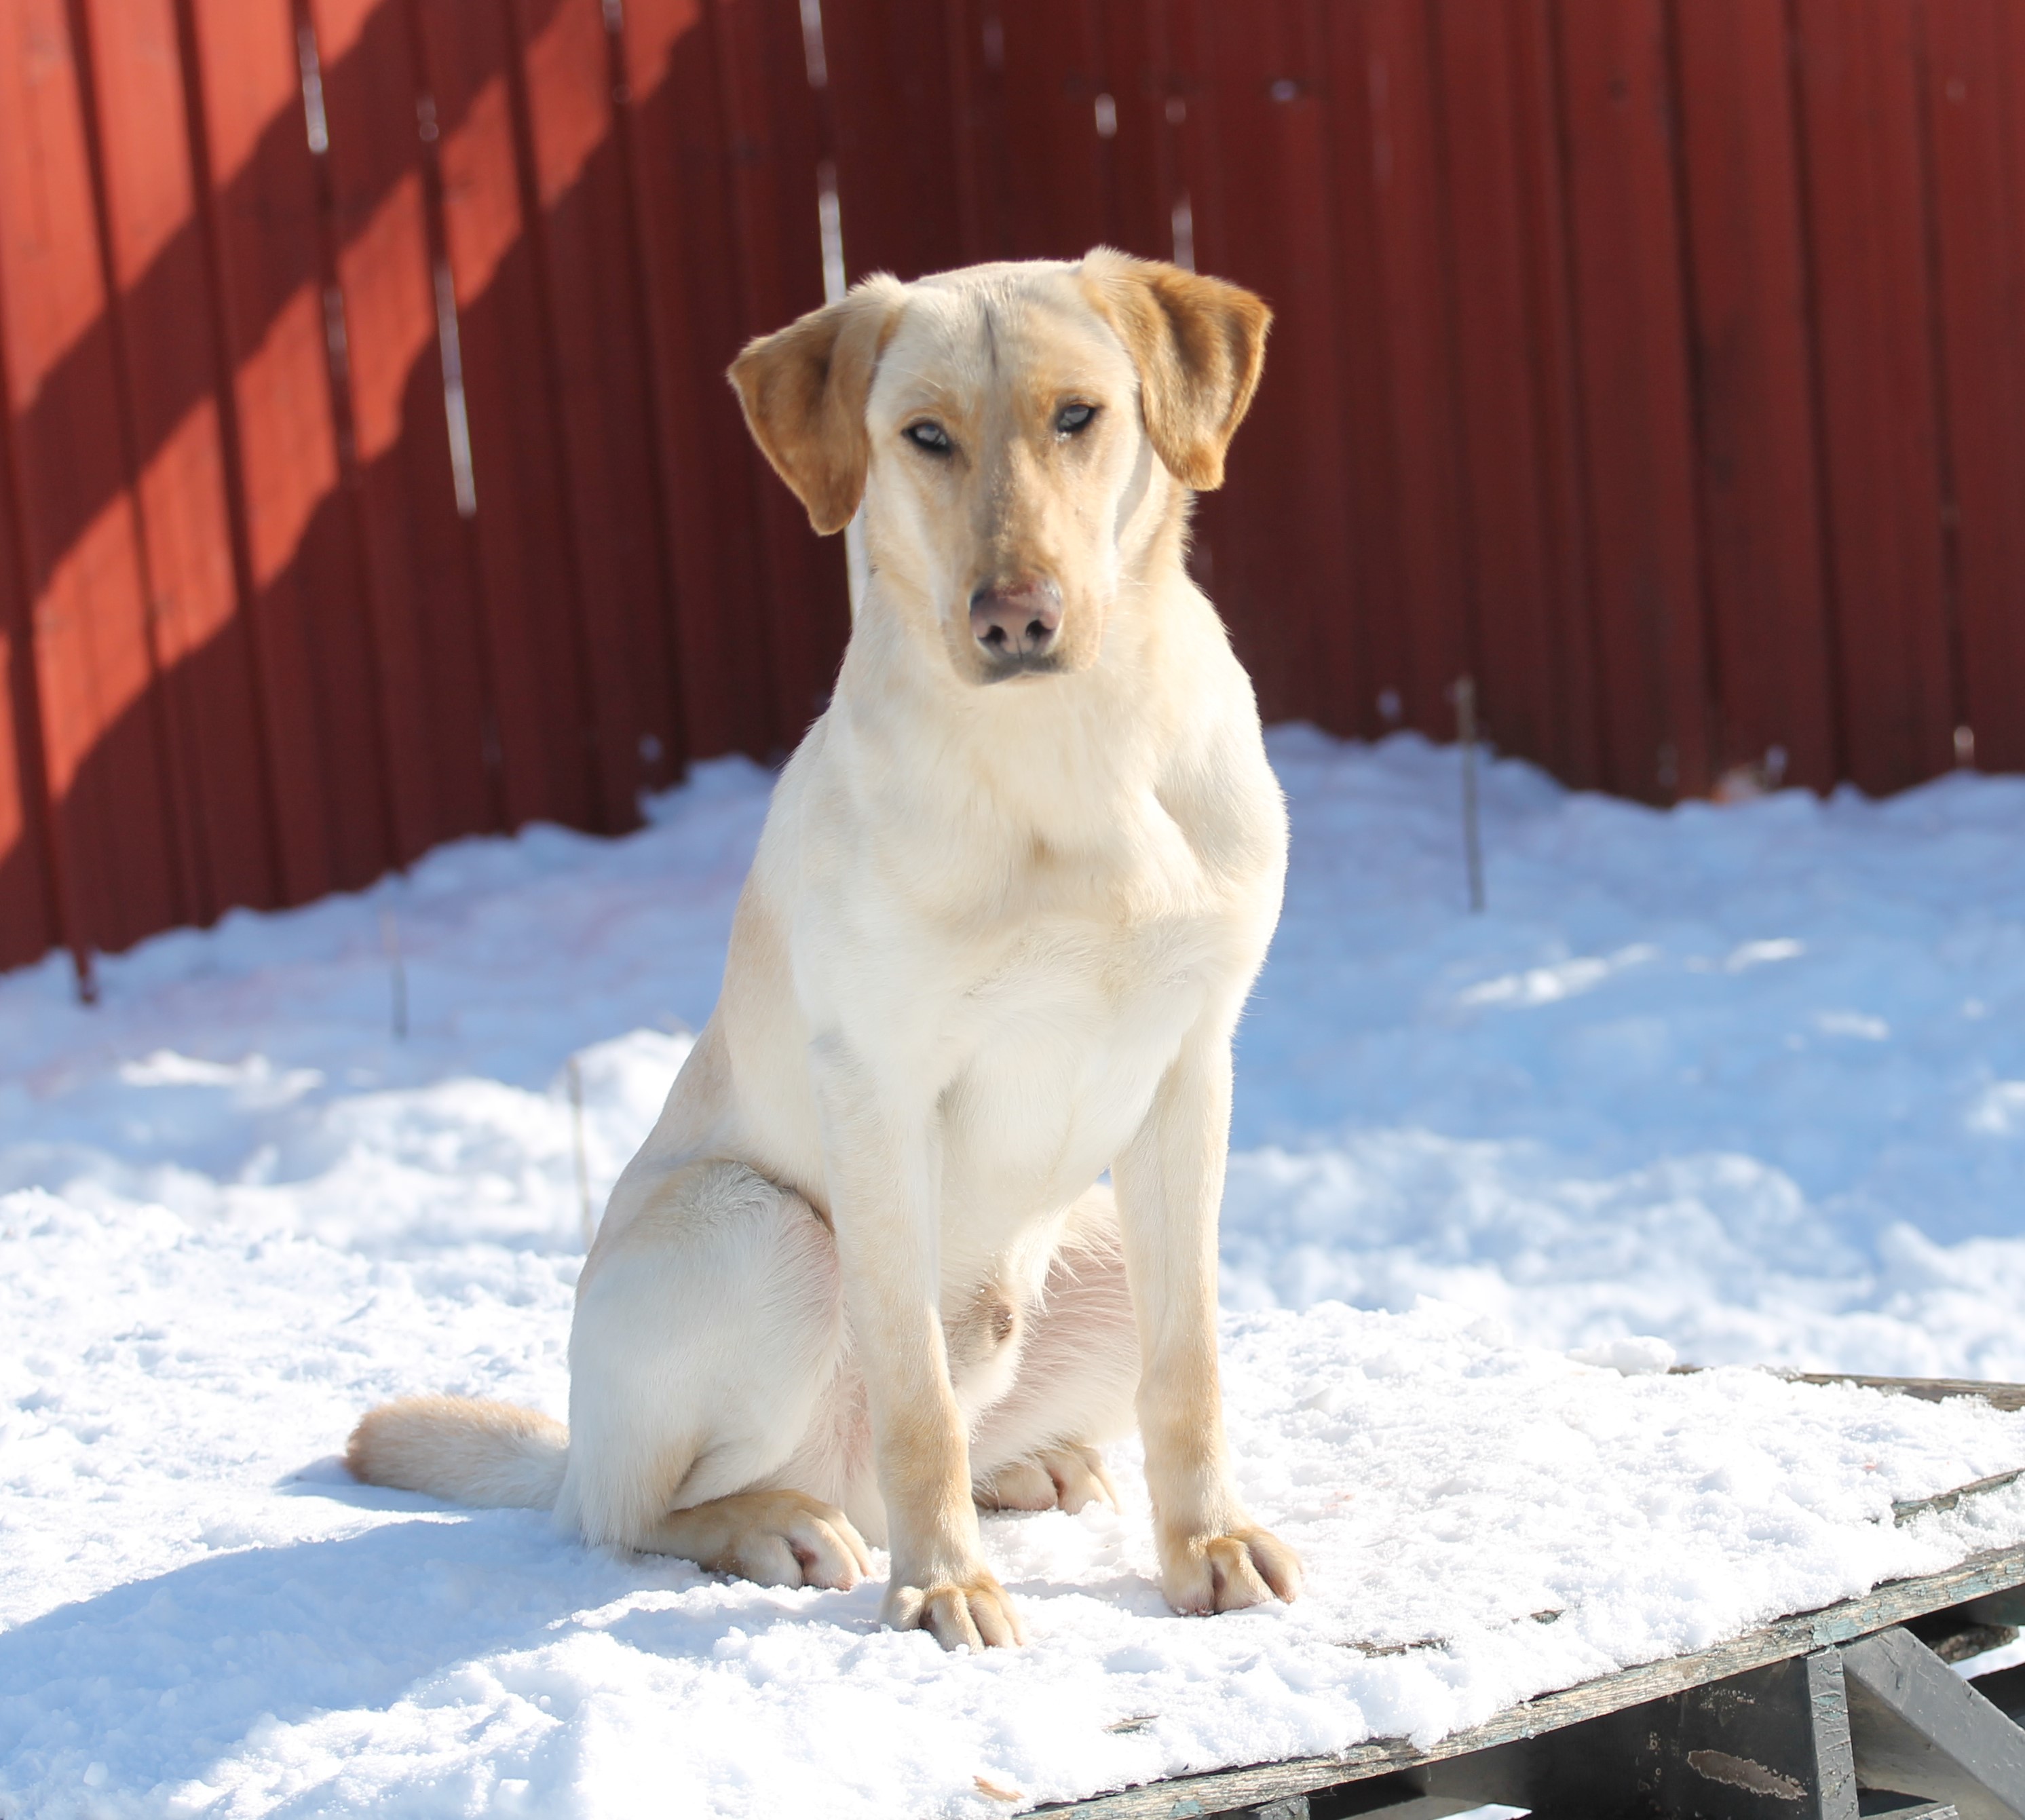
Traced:
<svg viewBox="0 0 2025 1820">
<path fill-rule="evenodd" d="M 1217 1209 L 1231 1134 L 1227 1030 L 1197 1032 L 1112 1168 L 1140 1330 L 1140 1433 L 1177 1611 L 1231 1611 L 1300 1591 L 1300 1557 L 1231 1484 L 1217 1381 Z"/>
</svg>

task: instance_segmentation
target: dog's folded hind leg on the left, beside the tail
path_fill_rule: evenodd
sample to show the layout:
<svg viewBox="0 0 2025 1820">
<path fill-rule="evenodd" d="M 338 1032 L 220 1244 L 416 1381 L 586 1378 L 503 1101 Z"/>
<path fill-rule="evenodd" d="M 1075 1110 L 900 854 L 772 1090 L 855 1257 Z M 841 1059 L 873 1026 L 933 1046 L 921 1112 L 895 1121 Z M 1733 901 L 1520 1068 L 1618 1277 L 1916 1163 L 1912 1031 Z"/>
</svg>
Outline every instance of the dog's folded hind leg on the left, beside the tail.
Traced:
<svg viewBox="0 0 2025 1820">
<path fill-rule="evenodd" d="M 741 1164 L 676 1170 L 577 1288 L 557 1516 L 593 1545 L 850 1585 L 869 1567 L 840 1508 L 869 1470 L 855 1377 L 810 1205 Z"/>
</svg>

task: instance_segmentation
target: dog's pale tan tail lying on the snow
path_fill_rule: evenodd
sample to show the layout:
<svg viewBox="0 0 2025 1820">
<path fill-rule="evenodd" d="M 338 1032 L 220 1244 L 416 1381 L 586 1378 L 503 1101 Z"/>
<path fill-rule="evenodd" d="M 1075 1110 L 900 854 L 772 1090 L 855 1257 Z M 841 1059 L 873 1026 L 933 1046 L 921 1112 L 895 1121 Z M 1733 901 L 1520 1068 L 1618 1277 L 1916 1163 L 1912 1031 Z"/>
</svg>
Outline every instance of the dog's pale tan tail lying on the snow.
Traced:
<svg viewBox="0 0 2025 1820">
<path fill-rule="evenodd" d="M 474 1397 L 383 1403 L 344 1445 L 344 1466 L 360 1484 L 512 1510 L 555 1508 L 567 1460 L 563 1423 Z"/>
</svg>

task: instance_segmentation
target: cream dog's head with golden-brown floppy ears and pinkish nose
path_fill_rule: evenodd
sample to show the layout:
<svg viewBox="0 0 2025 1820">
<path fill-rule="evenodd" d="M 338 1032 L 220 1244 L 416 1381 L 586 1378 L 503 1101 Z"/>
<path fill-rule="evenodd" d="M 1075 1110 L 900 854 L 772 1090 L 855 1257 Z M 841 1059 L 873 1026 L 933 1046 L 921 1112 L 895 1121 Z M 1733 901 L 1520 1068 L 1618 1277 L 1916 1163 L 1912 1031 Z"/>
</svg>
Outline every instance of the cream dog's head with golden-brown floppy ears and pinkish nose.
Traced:
<svg viewBox="0 0 2025 1820">
<path fill-rule="evenodd" d="M 1237 285 L 1098 249 L 871 277 L 751 342 L 731 383 L 816 530 L 863 500 L 881 597 L 960 678 L 1004 682 L 1098 662 L 1120 587 L 1223 484 L 1270 320 Z"/>
</svg>

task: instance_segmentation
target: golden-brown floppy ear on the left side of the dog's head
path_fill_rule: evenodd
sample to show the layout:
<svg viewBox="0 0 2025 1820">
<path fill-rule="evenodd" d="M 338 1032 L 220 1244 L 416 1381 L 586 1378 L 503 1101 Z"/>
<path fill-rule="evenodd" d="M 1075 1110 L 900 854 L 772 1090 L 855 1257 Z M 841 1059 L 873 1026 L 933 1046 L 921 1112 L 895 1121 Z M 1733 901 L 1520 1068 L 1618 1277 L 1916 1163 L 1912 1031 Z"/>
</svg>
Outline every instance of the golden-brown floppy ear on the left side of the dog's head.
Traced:
<svg viewBox="0 0 2025 1820">
<path fill-rule="evenodd" d="M 865 498 L 865 399 L 903 294 L 899 279 L 879 273 L 840 302 L 747 342 L 731 362 L 753 441 L 808 506 L 820 536 L 842 530 Z"/>
</svg>

